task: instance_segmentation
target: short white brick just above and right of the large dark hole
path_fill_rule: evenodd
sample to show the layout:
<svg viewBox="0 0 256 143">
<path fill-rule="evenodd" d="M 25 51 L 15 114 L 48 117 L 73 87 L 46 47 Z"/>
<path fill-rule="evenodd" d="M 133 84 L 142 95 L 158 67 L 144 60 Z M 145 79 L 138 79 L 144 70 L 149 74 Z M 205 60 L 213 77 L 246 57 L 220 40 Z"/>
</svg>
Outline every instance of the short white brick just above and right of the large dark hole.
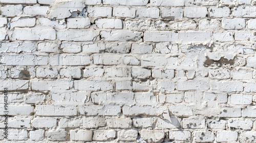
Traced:
<svg viewBox="0 0 256 143">
<path fill-rule="evenodd" d="M 213 35 L 215 41 L 228 42 L 234 40 L 232 32 L 214 32 Z"/>
</svg>

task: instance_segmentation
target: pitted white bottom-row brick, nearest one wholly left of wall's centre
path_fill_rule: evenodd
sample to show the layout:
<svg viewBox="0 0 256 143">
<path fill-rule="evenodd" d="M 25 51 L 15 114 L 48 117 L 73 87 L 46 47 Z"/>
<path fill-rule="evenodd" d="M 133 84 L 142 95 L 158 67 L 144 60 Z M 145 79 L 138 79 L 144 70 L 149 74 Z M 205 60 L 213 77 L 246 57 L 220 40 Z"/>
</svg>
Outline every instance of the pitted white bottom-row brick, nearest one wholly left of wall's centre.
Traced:
<svg viewBox="0 0 256 143">
<path fill-rule="evenodd" d="M 93 134 L 93 140 L 109 140 L 116 137 L 116 131 L 114 130 L 96 130 Z"/>
</svg>

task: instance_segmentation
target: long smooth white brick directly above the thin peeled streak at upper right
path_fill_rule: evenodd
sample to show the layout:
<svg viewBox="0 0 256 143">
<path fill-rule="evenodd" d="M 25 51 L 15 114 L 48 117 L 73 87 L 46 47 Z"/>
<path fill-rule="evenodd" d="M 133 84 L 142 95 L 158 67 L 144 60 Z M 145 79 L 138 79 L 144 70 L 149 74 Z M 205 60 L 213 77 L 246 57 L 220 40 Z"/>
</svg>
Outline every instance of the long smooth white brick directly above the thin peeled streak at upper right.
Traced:
<svg viewBox="0 0 256 143">
<path fill-rule="evenodd" d="M 210 41 L 211 32 L 205 32 L 205 31 L 179 32 L 179 40 L 181 42 Z"/>
</svg>

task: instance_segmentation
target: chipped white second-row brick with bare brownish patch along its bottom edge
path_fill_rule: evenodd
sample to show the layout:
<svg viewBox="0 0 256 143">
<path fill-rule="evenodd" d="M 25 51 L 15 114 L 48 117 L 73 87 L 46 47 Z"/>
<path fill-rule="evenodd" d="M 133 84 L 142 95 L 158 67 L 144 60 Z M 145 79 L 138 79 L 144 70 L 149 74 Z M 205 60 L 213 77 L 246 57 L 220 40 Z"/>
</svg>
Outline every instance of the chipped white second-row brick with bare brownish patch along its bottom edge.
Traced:
<svg viewBox="0 0 256 143">
<path fill-rule="evenodd" d="M 162 8 L 161 10 L 162 18 L 167 19 L 181 19 L 183 18 L 182 8 Z"/>
</svg>

